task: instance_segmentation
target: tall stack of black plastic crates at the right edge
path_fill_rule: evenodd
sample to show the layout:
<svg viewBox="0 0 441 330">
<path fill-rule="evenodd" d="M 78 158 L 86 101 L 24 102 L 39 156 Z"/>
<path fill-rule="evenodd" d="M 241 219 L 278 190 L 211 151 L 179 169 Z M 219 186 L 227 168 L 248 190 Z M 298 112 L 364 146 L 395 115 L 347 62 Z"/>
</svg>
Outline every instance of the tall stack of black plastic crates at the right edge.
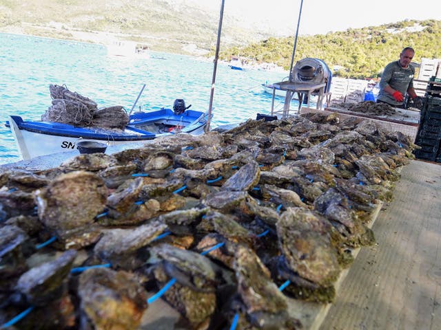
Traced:
<svg viewBox="0 0 441 330">
<path fill-rule="evenodd" d="M 437 81 L 438 80 L 438 81 Z M 441 80 L 431 78 L 427 86 L 424 107 L 421 111 L 420 127 L 415 144 L 420 149 L 414 151 L 419 159 L 441 162 Z"/>
</svg>

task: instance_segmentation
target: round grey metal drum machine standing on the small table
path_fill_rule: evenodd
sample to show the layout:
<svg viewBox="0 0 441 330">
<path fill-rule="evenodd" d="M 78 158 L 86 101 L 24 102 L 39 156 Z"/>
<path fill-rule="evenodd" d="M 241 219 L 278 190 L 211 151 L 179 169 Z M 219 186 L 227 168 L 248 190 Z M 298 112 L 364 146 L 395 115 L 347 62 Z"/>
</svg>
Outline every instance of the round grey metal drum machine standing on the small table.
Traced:
<svg viewBox="0 0 441 330">
<path fill-rule="evenodd" d="M 291 72 L 294 83 L 326 83 L 325 92 L 331 89 L 332 72 L 325 62 L 318 58 L 302 58 L 297 61 Z"/>
</svg>

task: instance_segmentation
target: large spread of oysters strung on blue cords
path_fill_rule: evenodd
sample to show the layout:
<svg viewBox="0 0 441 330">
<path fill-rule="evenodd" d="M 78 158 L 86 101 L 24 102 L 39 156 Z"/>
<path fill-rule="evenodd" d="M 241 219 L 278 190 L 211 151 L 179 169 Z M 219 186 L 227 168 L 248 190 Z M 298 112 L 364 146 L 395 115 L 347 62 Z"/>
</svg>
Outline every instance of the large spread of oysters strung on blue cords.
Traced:
<svg viewBox="0 0 441 330">
<path fill-rule="evenodd" d="M 0 175 L 0 325 L 136 329 L 152 295 L 187 329 L 299 329 L 336 296 L 414 144 L 310 113 Z"/>
</svg>

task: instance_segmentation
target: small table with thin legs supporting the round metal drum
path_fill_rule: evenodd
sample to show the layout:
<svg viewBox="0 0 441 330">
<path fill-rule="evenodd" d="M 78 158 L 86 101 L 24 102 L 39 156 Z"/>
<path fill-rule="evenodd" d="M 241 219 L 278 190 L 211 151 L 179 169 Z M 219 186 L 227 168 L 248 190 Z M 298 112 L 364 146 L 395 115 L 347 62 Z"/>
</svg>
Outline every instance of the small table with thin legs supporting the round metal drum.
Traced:
<svg viewBox="0 0 441 330">
<path fill-rule="evenodd" d="M 318 95 L 316 109 L 322 109 L 323 97 L 325 96 L 326 83 L 322 84 L 308 84 L 308 83 L 293 83 L 291 81 L 281 81 L 280 83 L 273 83 L 273 98 L 271 102 L 271 115 L 274 115 L 277 111 L 274 111 L 274 97 L 276 96 L 276 89 L 281 89 L 287 92 L 285 96 L 285 103 L 283 104 L 282 118 L 287 118 L 289 115 L 289 105 L 295 93 L 298 95 L 298 111 L 302 108 L 303 98 L 307 97 L 307 107 L 309 108 L 309 101 L 311 95 L 314 93 Z M 280 111 L 279 111 L 280 112 Z"/>
</svg>

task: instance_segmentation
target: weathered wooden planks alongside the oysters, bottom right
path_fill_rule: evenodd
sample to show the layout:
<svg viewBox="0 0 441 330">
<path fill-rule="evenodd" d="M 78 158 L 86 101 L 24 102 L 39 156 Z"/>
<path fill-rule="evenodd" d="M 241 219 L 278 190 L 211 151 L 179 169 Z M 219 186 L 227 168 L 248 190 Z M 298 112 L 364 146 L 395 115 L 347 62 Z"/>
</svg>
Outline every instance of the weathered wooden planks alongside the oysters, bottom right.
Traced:
<svg viewBox="0 0 441 330">
<path fill-rule="evenodd" d="M 441 329 L 441 165 L 405 166 L 320 330 Z"/>
</svg>

